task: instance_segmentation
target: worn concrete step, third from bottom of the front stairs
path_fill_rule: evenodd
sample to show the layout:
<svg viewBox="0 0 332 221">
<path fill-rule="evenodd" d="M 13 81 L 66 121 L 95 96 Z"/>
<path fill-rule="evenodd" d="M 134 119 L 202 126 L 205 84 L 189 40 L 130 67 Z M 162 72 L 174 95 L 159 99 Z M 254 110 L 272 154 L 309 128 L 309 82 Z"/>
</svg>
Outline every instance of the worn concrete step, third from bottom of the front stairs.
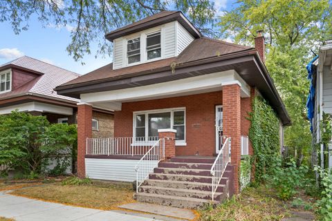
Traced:
<svg viewBox="0 0 332 221">
<path fill-rule="evenodd" d="M 197 191 L 212 191 L 212 184 L 201 184 L 197 182 L 169 181 L 169 180 L 145 180 L 144 186 L 160 186 L 174 189 L 191 189 Z M 216 192 L 223 192 L 225 184 L 219 184 Z"/>
</svg>

